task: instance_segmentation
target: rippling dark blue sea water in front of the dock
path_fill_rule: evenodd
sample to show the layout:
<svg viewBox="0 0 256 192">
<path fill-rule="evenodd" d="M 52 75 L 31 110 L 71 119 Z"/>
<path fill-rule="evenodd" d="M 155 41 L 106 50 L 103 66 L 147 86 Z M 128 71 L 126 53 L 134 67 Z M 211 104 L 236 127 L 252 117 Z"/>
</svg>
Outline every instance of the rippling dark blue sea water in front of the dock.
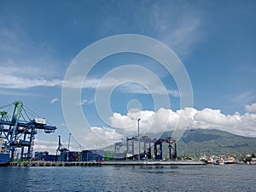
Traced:
<svg viewBox="0 0 256 192">
<path fill-rule="evenodd" d="M 256 166 L 0 167 L 0 191 L 256 191 Z"/>
</svg>

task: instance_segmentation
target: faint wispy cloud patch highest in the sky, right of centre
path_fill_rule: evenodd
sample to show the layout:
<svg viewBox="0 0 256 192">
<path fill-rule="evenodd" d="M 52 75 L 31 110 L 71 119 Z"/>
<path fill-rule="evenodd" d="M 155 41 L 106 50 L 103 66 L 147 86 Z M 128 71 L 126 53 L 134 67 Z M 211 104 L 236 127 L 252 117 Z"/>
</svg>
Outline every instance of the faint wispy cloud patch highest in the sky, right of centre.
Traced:
<svg viewBox="0 0 256 192">
<path fill-rule="evenodd" d="M 203 13 L 191 3 L 176 3 L 165 8 L 166 4 L 155 3 L 151 20 L 161 41 L 167 43 L 177 54 L 189 54 L 196 42 L 203 37 L 201 24 Z M 173 15 L 178 15 L 173 17 Z"/>
</svg>

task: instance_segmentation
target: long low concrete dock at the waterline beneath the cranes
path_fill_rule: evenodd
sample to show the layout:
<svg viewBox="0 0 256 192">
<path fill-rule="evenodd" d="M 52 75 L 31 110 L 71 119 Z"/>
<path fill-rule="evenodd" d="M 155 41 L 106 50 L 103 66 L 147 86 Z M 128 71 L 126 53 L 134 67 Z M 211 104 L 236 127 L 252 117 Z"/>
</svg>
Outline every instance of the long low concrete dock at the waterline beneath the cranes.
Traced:
<svg viewBox="0 0 256 192">
<path fill-rule="evenodd" d="M 90 167 L 90 166 L 195 166 L 206 165 L 203 161 L 13 161 L 10 167 Z"/>
</svg>

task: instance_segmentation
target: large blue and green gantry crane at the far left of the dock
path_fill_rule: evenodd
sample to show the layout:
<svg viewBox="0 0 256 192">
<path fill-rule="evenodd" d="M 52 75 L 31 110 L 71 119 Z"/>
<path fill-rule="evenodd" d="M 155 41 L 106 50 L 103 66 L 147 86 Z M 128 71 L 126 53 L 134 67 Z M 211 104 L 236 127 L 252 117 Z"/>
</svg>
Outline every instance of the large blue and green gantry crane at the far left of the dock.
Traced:
<svg viewBox="0 0 256 192">
<path fill-rule="evenodd" d="M 13 112 L 10 116 L 8 110 L 11 108 Z M 9 150 L 11 159 L 18 149 L 20 149 L 20 158 L 32 157 L 34 139 L 38 130 L 44 130 L 44 133 L 55 132 L 55 126 L 48 126 L 45 118 L 38 117 L 20 101 L 0 107 L 0 110 L 0 136 L 6 140 L 4 145 Z"/>
</svg>

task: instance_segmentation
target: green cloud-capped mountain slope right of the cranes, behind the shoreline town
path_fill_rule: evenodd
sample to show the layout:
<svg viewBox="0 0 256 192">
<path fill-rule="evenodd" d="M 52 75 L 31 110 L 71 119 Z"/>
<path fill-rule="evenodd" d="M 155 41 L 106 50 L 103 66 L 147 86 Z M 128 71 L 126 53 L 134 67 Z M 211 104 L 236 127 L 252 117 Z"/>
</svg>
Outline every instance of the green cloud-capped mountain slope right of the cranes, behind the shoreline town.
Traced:
<svg viewBox="0 0 256 192">
<path fill-rule="evenodd" d="M 162 138 L 172 133 L 164 133 Z M 165 150 L 167 147 L 165 146 Z M 217 129 L 187 130 L 177 142 L 177 155 L 246 155 L 256 153 L 256 138 L 248 138 Z"/>
</svg>

